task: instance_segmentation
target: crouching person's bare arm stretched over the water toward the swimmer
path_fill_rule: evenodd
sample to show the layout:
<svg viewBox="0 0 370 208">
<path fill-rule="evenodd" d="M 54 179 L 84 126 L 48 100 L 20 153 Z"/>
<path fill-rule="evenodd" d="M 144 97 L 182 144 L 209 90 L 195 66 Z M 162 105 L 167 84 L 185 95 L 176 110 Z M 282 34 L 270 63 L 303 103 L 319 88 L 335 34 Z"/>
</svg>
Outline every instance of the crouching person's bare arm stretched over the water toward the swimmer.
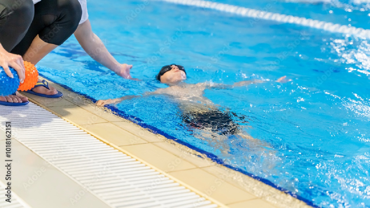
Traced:
<svg viewBox="0 0 370 208">
<path fill-rule="evenodd" d="M 114 71 L 122 78 L 132 79 L 130 75 L 130 69 L 132 68 L 132 65 L 120 64 L 110 54 L 104 43 L 92 31 L 89 20 L 86 20 L 84 23 L 78 25 L 77 30 L 74 32 L 74 36 L 85 52 L 87 52 L 87 54 L 90 55 L 90 57 L 95 61 Z"/>
</svg>

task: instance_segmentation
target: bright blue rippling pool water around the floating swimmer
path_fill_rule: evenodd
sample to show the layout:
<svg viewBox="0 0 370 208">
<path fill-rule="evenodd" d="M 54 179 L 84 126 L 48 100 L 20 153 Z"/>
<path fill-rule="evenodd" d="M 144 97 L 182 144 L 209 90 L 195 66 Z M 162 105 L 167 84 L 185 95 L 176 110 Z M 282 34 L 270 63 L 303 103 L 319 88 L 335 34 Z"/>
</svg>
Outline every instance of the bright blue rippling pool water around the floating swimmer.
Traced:
<svg viewBox="0 0 370 208">
<path fill-rule="evenodd" d="M 236 6 L 369 28 L 365 1 L 217 0 Z M 365 2 L 365 3 L 364 3 Z M 187 69 L 186 83 L 265 83 L 210 89 L 206 98 L 245 119 L 245 134 L 196 134 L 178 104 L 158 95 L 118 104 L 134 122 L 209 153 L 318 207 L 370 207 L 370 49 L 364 38 L 296 24 L 239 17 L 191 6 L 148 1 L 88 1 L 94 32 L 121 63 L 125 80 L 92 60 L 74 37 L 38 65 L 42 75 L 93 99 L 140 95 L 166 85 L 162 65 Z M 132 13 L 137 9 L 137 13 Z M 128 18 L 127 17 L 132 17 Z M 350 20 L 349 20 L 350 19 Z M 172 40 L 171 40 L 172 39 Z M 291 82 L 273 80 L 287 75 Z"/>
</svg>

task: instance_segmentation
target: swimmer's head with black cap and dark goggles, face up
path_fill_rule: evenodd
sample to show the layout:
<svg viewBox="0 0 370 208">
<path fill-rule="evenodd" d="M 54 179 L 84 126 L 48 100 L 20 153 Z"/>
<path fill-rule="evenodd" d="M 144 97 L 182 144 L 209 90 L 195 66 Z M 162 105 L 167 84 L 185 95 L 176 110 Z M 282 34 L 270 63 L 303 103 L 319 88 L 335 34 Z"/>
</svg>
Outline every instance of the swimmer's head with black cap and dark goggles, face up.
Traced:
<svg viewBox="0 0 370 208">
<path fill-rule="evenodd" d="M 157 75 L 162 83 L 177 83 L 186 79 L 185 68 L 180 65 L 171 64 L 162 67 Z"/>
</svg>

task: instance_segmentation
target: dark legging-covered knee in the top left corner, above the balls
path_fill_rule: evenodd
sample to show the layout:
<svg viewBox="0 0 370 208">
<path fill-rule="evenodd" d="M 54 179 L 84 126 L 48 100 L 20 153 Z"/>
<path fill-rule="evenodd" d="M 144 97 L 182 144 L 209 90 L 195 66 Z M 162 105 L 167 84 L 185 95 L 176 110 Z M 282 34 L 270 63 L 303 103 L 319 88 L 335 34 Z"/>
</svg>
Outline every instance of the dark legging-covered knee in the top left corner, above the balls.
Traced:
<svg viewBox="0 0 370 208">
<path fill-rule="evenodd" d="M 34 15 L 32 0 L 0 0 L 0 43 L 10 52 L 26 34 Z"/>
</svg>

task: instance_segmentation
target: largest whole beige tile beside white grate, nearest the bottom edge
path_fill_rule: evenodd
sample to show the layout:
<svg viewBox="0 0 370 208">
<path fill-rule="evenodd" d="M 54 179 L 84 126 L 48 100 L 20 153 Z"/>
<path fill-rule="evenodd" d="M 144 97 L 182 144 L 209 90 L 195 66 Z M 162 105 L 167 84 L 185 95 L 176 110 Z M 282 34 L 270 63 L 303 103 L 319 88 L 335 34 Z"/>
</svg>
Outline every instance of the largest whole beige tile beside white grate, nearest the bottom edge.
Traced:
<svg viewBox="0 0 370 208">
<path fill-rule="evenodd" d="M 171 172 L 171 175 L 223 204 L 231 204 L 256 198 L 254 195 L 199 168 Z"/>
</svg>

